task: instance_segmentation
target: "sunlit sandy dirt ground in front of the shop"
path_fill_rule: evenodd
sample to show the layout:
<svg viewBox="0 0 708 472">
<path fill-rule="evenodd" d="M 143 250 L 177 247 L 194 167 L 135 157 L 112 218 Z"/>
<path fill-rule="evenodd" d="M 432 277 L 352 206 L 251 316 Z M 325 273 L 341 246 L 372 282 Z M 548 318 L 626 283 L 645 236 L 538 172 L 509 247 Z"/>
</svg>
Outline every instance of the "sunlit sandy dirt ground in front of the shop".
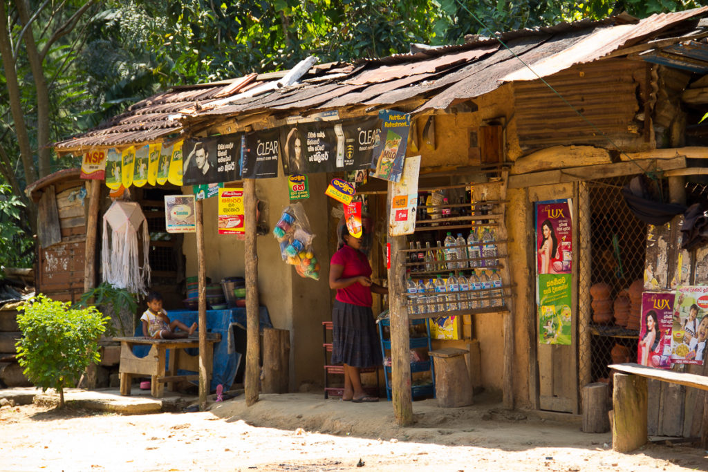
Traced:
<svg viewBox="0 0 708 472">
<path fill-rule="evenodd" d="M 0 409 L 2 471 L 685 471 L 708 451 L 649 444 L 609 449 L 610 434 L 543 421 L 495 405 L 413 403 L 396 427 L 389 402 L 321 395 L 243 396 L 202 413 L 117 415 L 69 405 Z"/>
</svg>

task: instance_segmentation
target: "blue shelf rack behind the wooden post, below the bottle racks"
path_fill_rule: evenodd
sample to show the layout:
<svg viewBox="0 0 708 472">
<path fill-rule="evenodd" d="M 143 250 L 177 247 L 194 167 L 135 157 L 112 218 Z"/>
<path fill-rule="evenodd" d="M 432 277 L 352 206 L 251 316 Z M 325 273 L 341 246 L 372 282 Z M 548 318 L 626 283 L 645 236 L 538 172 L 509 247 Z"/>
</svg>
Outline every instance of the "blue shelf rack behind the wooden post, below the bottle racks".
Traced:
<svg viewBox="0 0 708 472">
<path fill-rule="evenodd" d="M 386 332 L 389 331 L 386 328 L 391 326 L 391 323 L 389 321 L 389 318 L 380 318 L 379 319 L 379 340 L 381 341 L 381 353 L 384 359 L 387 359 L 387 357 L 390 359 L 390 354 L 387 354 L 387 352 L 390 353 L 391 351 L 391 340 L 390 338 L 386 338 Z M 433 350 L 433 346 L 430 344 L 430 326 L 428 326 L 428 323 L 424 320 L 411 320 L 410 326 L 411 328 L 415 328 L 416 326 L 425 326 L 426 328 L 426 335 L 421 336 L 418 338 L 413 338 L 411 336 L 409 340 L 409 347 L 412 349 L 416 348 L 424 348 L 426 349 L 426 355 L 428 352 Z M 384 381 L 386 384 L 386 397 L 391 400 L 391 372 L 392 372 L 392 366 L 387 365 L 389 364 L 388 362 L 385 362 L 384 360 Z M 430 372 L 430 382 L 426 382 L 426 384 L 421 384 L 421 385 L 416 385 L 413 384 L 411 385 L 411 397 L 412 398 L 421 398 L 423 396 L 435 396 L 435 371 L 433 369 L 433 360 L 428 359 L 425 361 L 416 361 L 416 362 L 411 362 L 411 374 L 414 372 Z"/>
</svg>

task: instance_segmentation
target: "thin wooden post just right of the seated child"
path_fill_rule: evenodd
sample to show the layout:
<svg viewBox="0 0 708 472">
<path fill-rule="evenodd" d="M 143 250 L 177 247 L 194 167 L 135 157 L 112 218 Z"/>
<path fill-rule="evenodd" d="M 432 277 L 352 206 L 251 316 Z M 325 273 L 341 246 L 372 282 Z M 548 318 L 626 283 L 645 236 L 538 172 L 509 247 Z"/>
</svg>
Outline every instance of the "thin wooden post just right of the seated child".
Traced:
<svg viewBox="0 0 708 472">
<path fill-rule="evenodd" d="M 197 224 L 197 278 L 199 281 L 199 409 L 206 410 L 209 386 L 207 380 L 207 269 L 204 262 L 204 200 L 195 204 Z M 174 352 L 171 353 L 174 355 Z"/>
</svg>

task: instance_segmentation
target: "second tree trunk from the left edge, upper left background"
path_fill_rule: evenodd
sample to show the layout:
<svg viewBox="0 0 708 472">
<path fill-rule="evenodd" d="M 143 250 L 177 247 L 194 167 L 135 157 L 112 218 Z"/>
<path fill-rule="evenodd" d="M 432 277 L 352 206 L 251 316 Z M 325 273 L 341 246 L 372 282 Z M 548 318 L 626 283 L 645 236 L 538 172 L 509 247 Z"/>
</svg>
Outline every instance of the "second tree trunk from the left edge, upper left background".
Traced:
<svg viewBox="0 0 708 472">
<path fill-rule="evenodd" d="M 30 15 L 27 11 L 25 0 L 17 0 L 15 5 L 22 24 L 27 25 L 30 21 Z M 25 50 L 35 82 L 35 93 L 37 94 L 37 152 L 39 155 L 39 176 L 42 178 L 50 174 L 49 91 L 47 90 L 44 69 L 42 68 L 42 59 L 37 50 L 31 26 L 25 30 L 24 38 L 19 38 L 19 40 L 24 40 L 25 42 Z"/>
</svg>

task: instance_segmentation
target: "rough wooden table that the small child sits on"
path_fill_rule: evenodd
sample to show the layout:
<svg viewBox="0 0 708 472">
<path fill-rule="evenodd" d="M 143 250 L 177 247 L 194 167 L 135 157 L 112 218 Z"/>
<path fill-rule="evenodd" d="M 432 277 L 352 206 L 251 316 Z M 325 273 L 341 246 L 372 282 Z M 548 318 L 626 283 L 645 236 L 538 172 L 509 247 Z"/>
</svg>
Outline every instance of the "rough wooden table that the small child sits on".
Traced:
<svg viewBox="0 0 708 472">
<path fill-rule="evenodd" d="M 178 369 L 199 372 L 199 356 L 189 355 L 185 349 L 199 347 L 198 338 L 183 339 L 150 339 L 142 336 L 131 336 L 125 338 L 113 338 L 120 341 L 120 394 L 130 395 L 131 376 L 150 376 L 150 390 L 152 396 L 161 398 L 164 393 L 164 384 L 167 388 L 174 390 L 174 383 L 179 380 L 198 380 L 199 374 L 176 375 Z M 207 367 L 207 385 L 212 376 L 212 356 L 214 353 L 214 343 L 221 340 L 221 335 L 208 333 L 207 352 L 205 364 Z M 132 353 L 134 345 L 149 345 L 150 350 L 145 357 L 137 357 Z M 169 366 L 165 368 L 167 350 L 171 349 L 169 356 Z"/>
</svg>

